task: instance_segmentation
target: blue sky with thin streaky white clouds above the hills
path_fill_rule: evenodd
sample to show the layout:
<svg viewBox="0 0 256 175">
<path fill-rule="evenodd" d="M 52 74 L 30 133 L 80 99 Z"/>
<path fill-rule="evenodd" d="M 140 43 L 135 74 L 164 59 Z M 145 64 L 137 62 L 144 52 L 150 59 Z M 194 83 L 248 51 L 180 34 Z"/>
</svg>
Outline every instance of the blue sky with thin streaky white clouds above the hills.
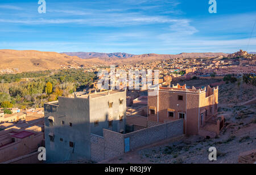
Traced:
<svg viewBox="0 0 256 175">
<path fill-rule="evenodd" d="M 131 54 L 256 51 L 256 1 L 0 1 L 0 49 Z M 252 32 L 253 31 L 253 32 Z"/>
</svg>

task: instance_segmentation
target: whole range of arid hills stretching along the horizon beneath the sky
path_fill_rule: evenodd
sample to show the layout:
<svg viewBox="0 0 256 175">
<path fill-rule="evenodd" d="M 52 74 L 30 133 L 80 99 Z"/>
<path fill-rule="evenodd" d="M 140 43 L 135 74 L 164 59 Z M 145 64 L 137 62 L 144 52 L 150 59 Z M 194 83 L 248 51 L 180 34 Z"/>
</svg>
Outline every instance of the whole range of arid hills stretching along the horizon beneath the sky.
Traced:
<svg viewBox="0 0 256 175">
<path fill-rule="evenodd" d="M 69 53 L 67 53 L 69 54 Z M 53 70 L 61 67 L 87 67 L 92 64 L 97 65 L 122 65 L 130 63 L 146 63 L 163 59 L 174 58 L 212 58 L 227 56 L 225 53 L 181 53 L 181 54 L 142 54 L 133 56 L 126 53 L 104 54 L 102 57 L 97 57 L 97 54 L 91 54 L 86 57 L 82 54 L 70 54 L 56 52 L 40 52 L 36 50 L 0 50 L 0 70 L 15 69 L 18 72 L 22 71 L 38 71 L 38 70 Z M 74 56 L 76 55 L 76 56 Z M 95 57 L 94 57 L 95 56 Z"/>
</svg>

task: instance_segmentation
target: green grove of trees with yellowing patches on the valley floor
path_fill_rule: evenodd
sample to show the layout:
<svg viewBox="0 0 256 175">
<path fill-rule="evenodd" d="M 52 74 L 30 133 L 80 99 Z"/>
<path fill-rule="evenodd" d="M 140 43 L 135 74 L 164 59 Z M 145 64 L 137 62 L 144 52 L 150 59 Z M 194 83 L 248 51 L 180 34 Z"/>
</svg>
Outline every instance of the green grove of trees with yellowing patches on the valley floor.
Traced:
<svg viewBox="0 0 256 175">
<path fill-rule="evenodd" d="M 88 88 L 96 78 L 92 72 L 82 69 L 23 72 L 0 75 L 0 105 L 5 113 L 7 108 L 38 108 L 58 96 Z"/>
</svg>

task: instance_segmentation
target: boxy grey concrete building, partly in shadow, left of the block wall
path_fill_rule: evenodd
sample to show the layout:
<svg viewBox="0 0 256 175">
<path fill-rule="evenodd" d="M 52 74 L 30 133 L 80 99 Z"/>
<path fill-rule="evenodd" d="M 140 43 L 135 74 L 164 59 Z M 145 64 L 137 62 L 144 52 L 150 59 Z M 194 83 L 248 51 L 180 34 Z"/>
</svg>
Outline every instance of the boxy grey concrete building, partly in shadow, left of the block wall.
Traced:
<svg viewBox="0 0 256 175">
<path fill-rule="evenodd" d="M 47 161 L 91 159 L 91 134 L 124 133 L 126 91 L 59 97 L 44 104 Z M 100 151 L 100 150 L 99 150 Z"/>
</svg>

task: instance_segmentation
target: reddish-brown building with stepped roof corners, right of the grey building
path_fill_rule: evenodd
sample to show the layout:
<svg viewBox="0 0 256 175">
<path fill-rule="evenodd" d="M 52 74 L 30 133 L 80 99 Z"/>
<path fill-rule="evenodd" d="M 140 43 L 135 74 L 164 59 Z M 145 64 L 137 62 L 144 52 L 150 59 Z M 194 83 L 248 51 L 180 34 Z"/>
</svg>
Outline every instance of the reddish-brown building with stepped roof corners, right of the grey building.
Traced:
<svg viewBox="0 0 256 175">
<path fill-rule="evenodd" d="M 216 136 L 224 126 L 217 117 L 218 87 L 184 86 L 148 90 L 148 121 L 164 123 L 184 119 L 185 135 Z"/>
</svg>

